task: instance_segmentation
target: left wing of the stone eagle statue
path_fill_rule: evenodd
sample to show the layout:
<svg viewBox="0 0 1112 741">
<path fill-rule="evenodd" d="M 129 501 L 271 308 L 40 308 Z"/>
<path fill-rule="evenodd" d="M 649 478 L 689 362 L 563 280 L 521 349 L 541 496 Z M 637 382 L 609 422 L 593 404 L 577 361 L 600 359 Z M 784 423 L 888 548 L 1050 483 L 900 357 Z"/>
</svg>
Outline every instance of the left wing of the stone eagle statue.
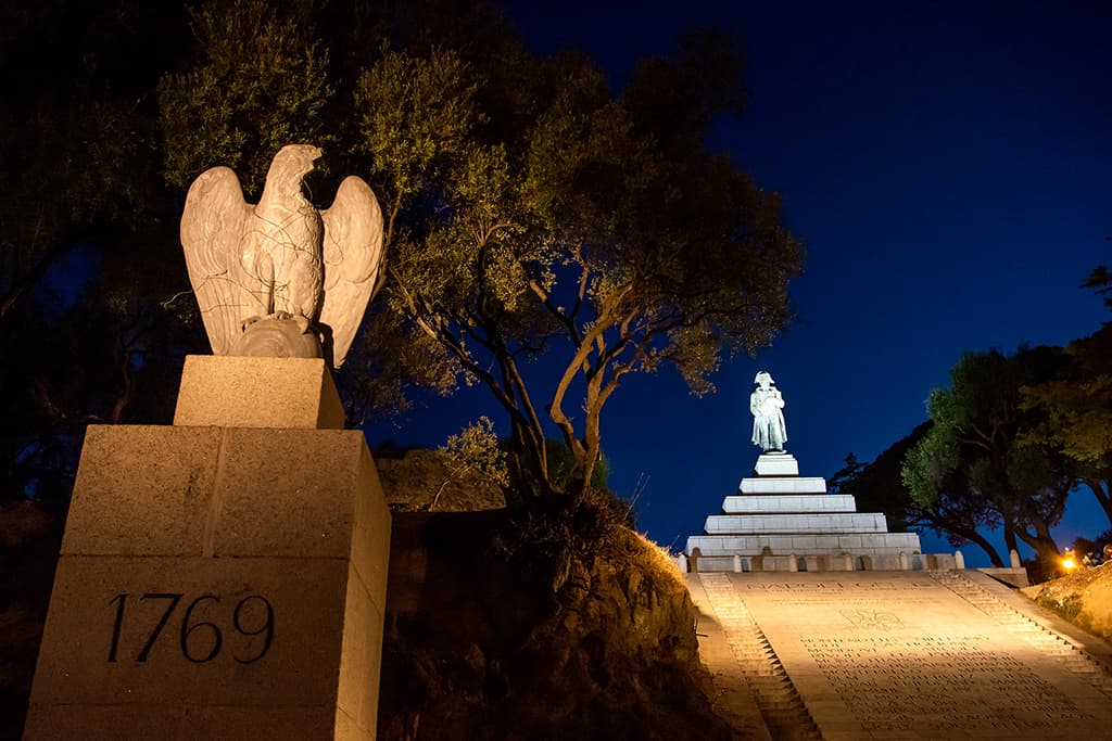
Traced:
<svg viewBox="0 0 1112 741">
<path fill-rule="evenodd" d="M 242 269 L 252 207 L 229 168 L 211 168 L 189 187 L 181 213 L 181 247 L 189 282 L 205 320 L 212 353 L 227 354 L 247 317 L 267 313 L 261 284 Z"/>
</svg>

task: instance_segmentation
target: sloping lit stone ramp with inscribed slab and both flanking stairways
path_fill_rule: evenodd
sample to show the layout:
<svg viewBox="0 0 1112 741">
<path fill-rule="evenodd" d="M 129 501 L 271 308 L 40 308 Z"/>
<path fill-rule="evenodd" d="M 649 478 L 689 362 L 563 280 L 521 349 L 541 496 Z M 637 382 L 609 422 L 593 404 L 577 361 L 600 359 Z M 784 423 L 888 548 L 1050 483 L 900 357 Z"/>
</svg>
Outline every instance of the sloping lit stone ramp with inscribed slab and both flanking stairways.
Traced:
<svg viewBox="0 0 1112 741">
<path fill-rule="evenodd" d="M 761 712 L 813 721 L 814 738 L 1109 737 L 1100 667 L 1112 648 L 985 574 L 686 578 L 701 614 L 699 655 L 715 681 L 748 680 Z M 788 722 L 774 738 L 808 738 L 802 722 Z"/>
</svg>

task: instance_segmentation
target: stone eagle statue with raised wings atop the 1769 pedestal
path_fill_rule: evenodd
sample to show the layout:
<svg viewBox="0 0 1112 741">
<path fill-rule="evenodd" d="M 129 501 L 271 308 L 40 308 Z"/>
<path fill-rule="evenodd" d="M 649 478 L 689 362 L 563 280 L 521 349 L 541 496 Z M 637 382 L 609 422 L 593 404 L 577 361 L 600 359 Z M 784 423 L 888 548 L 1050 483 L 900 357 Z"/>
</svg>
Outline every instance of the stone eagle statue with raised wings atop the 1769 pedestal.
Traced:
<svg viewBox="0 0 1112 741">
<path fill-rule="evenodd" d="M 378 282 L 383 211 L 355 176 L 317 211 L 301 181 L 319 158 L 316 147 L 282 147 L 254 206 L 226 167 L 190 186 L 181 246 L 215 354 L 344 363 Z"/>
</svg>

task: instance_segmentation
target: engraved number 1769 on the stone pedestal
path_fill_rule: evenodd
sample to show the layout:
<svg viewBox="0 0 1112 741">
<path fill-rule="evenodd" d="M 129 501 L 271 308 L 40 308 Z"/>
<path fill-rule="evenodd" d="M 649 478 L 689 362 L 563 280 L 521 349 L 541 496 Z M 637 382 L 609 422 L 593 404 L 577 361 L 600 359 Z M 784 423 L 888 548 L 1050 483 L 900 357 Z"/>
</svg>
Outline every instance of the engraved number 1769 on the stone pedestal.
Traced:
<svg viewBox="0 0 1112 741">
<path fill-rule="evenodd" d="M 237 663 L 255 663 L 270 650 L 275 610 L 261 594 L 241 598 L 230 611 L 221 609 L 225 602 L 217 594 L 196 597 L 179 611 L 183 599 L 186 595 L 179 592 L 148 592 L 139 597 L 120 592 L 109 600 L 115 614 L 108 662 L 128 661 L 130 657 L 135 663 L 146 663 L 156 647 L 166 642 L 159 638 L 171 624 L 171 630 L 177 631 L 178 650 L 191 663 L 207 663 L 221 654 L 229 623 L 237 639 L 231 651 Z"/>
</svg>

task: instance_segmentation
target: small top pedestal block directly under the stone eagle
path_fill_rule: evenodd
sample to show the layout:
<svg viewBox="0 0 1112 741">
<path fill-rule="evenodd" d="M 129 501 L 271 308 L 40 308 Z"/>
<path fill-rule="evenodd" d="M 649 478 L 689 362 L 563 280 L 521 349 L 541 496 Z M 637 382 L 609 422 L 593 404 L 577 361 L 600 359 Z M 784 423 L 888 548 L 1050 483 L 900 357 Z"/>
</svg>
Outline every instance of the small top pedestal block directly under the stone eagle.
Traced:
<svg viewBox="0 0 1112 741">
<path fill-rule="evenodd" d="M 173 423 L 344 429 L 344 407 L 317 358 L 187 356 Z"/>
</svg>

